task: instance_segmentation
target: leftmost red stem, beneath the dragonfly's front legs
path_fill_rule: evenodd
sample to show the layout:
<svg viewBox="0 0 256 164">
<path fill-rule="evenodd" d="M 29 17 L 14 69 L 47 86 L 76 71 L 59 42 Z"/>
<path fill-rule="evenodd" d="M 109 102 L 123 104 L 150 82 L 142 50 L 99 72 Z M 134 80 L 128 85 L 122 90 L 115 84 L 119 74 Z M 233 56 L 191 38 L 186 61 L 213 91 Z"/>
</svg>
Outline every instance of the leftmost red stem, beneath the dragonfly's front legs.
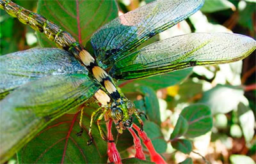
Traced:
<svg viewBox="0 0 256 164">
<path fill-rule="evenodd" d="M 112 119 L 109 119 L 109 122 L 107 124 L 108 140 L 113 140 L 113 135 L 111 133 L 112 122 Z M 113 162 L 115 164 L 122 164 L 121 156 L 118 153 L 114 142 L 108 142 L 108 158 L 111 163 Z"/>
</svg>

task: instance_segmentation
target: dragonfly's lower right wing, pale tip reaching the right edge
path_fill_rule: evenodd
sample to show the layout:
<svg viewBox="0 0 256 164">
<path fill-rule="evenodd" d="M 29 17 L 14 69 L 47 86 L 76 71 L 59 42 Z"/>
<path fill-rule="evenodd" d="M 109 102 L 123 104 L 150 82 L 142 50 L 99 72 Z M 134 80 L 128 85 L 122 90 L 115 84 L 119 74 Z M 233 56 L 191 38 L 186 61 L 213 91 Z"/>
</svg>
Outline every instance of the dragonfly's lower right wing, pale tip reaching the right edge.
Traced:
<svg viewBox="0 0 256 164">
<path fill-rule="evenodd" d="M 196 65 L 230 63 L 256 48 L 248 36 L 229 33 L 191 33 L 157 41 L 116 62 L 109 75 L 136 79 Z"/>
</svg>

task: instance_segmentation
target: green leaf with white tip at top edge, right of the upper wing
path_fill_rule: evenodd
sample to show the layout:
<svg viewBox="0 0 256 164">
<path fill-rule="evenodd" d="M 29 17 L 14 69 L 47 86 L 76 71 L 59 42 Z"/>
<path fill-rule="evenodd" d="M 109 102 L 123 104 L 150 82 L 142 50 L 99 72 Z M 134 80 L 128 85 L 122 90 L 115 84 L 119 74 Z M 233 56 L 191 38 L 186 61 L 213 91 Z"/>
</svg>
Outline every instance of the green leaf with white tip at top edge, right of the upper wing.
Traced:
<svg viewBox="0 0 256 164">
<path fill-rule="evenodd" d="M 205 0 L 201 11 L 205 13 L 213 13 L 216 11 L 227 10 L 229 8 L 233 11 L 236 10 L 236 6 L 227 0 Z"/>
</svg>

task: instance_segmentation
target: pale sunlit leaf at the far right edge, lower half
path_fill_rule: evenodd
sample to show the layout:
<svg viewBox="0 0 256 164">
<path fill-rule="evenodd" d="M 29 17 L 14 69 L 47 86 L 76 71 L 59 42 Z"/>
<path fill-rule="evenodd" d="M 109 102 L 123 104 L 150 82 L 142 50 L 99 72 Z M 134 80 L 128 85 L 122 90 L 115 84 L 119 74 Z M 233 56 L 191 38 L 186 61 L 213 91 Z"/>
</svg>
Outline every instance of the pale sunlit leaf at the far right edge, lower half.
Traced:
<svg viewBox="0 0 256 164">
<path fill-rule="evenodd" d="M 246 142 L 250 142 L 254 136 L 255 117 L 253 111 L 243 103 L 238 104 L 238 118 Z"/>
</svg>

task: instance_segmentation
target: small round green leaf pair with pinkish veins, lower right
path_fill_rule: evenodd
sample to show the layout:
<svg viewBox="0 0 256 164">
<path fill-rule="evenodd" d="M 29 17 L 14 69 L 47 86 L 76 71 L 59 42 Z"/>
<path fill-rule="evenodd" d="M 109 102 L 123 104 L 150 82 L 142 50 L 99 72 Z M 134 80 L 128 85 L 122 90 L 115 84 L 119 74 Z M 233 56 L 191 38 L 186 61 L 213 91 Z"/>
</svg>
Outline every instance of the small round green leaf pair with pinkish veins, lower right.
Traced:
<svg viewBox="0 0 256 164">
<path fill-rule="evenodd" d="M 182 110 L 170 137 L 173 148 L 182 153 L 192 151 L 192 143 L 180 137 L 195 138 L 204 135 L 212 128 L 211 109 L 206 105 L 190 105 Z"/>
</svg>

